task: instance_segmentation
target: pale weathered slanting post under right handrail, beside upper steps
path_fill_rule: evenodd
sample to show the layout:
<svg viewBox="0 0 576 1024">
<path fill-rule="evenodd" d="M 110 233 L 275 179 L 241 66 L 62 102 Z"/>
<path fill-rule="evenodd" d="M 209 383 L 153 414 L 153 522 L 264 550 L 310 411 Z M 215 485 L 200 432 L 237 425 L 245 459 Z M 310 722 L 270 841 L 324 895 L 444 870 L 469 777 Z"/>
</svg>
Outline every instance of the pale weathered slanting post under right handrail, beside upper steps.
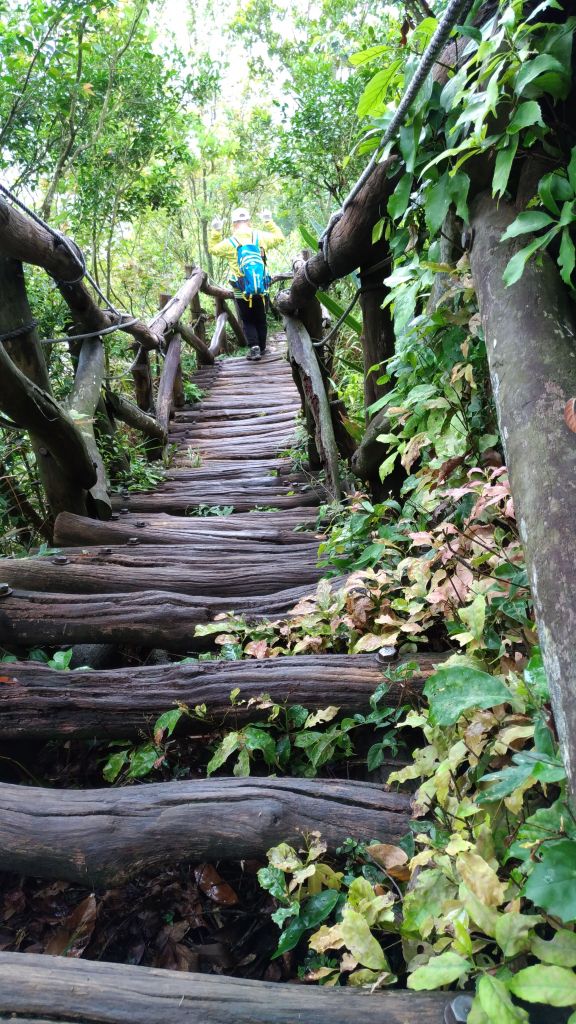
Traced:
<svg viewBox="0 0 576 1024">
<path fill-rule="evenodd" d="M 338 449 L 316 352 L 310 334 L 299 321 L 285 316 L 285 325 L 290 359 L 297 368 L 303 399 L 314 417 L 316 447 L 326 470 L 327 486 L 332 498 L 338 500 L 341 495 Z"/>
</svg>

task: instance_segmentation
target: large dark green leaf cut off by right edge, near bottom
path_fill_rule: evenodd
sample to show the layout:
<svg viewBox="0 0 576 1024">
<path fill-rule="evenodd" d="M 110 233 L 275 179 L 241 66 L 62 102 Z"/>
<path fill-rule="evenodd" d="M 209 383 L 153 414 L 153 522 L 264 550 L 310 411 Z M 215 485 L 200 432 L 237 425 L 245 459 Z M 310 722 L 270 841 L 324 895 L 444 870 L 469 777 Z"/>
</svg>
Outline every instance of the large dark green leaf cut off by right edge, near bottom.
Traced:
<svg viewBox="0 0 576 1024">
<path fill-rule="evenodd" d="M 543 846 L 524 894 L 561 921 L 576 921 L 576 842 L 564 839 Z"/>
</svg>

